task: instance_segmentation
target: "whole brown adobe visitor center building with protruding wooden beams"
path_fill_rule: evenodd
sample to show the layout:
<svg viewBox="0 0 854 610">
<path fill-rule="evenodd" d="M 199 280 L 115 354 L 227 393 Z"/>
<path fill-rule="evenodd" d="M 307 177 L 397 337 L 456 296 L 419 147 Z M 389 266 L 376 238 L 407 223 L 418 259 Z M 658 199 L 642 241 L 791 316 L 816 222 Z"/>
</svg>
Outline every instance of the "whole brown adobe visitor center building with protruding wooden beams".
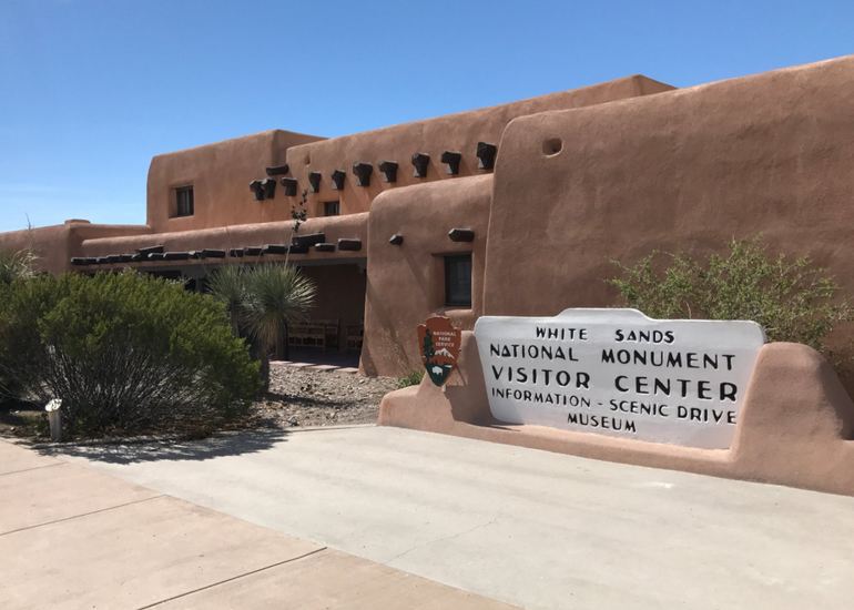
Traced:
<svg viewBox="0 0 854 610">
<path fill-rule="evenodd" d="M 403 375 L 430 314 L 471 329 L 611 305 L 610 262 L 654 248 L 761 233 L 854 293 L 852 99 L 843 58 L 689 89 L 637 75 L 343 138 L 274 130 L 155 156 L 145 225 L 68 221 L 0 247 L 33 247 L 54 273 L 196 286 L 287 260 L 318 285 L 297 339 Z"/>
</svg>

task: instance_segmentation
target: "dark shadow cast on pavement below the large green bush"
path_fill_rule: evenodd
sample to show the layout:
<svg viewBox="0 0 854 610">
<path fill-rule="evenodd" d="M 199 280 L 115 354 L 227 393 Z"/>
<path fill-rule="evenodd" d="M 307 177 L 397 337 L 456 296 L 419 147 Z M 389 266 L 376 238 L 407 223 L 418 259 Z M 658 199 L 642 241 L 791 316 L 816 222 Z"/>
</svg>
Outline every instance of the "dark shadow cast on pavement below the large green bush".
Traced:
<svg viewBox="0 0 854 610">
<path fill-rule="evenodd" d="M 283 429 L 221 433 L 201 440 L 112 440 L 81 444 L 35 445 L 32 448 L 48 456 L 82 457 L 108 464 L 133 464 L 157 460 L 205 460 L 240 456 L 268 449 L 286 440 Z"/>
</svg>

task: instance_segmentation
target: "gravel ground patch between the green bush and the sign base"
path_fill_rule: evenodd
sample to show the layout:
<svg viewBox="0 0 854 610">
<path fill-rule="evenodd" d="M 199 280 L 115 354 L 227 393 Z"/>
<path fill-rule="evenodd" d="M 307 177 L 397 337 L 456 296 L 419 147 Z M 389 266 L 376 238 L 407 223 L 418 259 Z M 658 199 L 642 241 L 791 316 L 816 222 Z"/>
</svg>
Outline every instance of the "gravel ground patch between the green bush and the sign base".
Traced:
<svg viewBox="0 0 854 610">
<path fill-rule="evenodd" d="M 394 377 L 318 373 L 271 363 L 270 393 L 254 406 L 267 426 L 374 424 L 383 396 L 397 389 Z"/>
</svg>

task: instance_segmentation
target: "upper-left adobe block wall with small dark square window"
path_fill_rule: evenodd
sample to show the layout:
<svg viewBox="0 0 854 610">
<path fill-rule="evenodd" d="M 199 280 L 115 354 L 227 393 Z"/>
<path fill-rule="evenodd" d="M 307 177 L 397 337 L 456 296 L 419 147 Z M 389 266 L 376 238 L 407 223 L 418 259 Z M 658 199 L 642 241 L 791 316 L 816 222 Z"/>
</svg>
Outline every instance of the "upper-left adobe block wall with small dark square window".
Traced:
<svg viewBox="0 0 854 610">
<path fill-rule="evenodd" d="M 155 156 L 149 167 L 148 224 L 156 233 L 167 233 L 291 218 L 291 204 L 281 185 L 274 200 L 258 202 L 250 182 L 266 177 L 265 167 L 283 164 L 288 146 L 317 139 L 271 130 Z M 189 184 L 193 185 L 195 214 L 171 217 L 173 190 Z"/>
</svg>

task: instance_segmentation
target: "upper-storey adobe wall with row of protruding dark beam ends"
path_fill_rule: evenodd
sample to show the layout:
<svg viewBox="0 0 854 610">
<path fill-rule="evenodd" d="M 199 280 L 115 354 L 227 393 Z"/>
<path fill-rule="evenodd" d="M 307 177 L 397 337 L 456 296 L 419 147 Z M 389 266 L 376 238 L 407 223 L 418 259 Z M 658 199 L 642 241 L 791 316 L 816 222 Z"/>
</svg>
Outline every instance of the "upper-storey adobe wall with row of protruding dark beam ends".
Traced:
<svg viewBox="0 0 854 610">
<path fill-rule="evenodd" d="M 505 126 L 516 116 L 545 110 L 600 104 L 672 89 L 669 84 L 645 77 L 629 77 L 509 104 L 297 145 L 287 150 L 286 160 L 291 175 L 299 182 L 301 191 L 308 189 L 311 172 L 322 174 L 319 192 L 309 195 L 311 215 L 323 215 L 323 202 L 326 201 L 339 201 L 342 214 L 367 212 L 370 202 L 382 192 L 424 184 L 427 181 L 458 177 L 448 175 L 447 166 L 440 162 L 445 151 L 458 151 L 462 154 L 459 176 L 486 173 L 478 170 L 478 159 L 475 154 L 477 143 L 482 141 L 498 144 Z M 426 177 L 413 175 L 411 155 L 416 152 L 430 155 Z M 395 184 L 384 183 L 377 167 L 380 161 L 386 160 L 398 163 Z M 367 187 L 358 186 L 353 174 L 353 164 L 357 162 L 374 165 L 370 185 Z M 331 175 L 335 170 L 347 174 L 342 191 L 333 189 Z"/>
</svg>

